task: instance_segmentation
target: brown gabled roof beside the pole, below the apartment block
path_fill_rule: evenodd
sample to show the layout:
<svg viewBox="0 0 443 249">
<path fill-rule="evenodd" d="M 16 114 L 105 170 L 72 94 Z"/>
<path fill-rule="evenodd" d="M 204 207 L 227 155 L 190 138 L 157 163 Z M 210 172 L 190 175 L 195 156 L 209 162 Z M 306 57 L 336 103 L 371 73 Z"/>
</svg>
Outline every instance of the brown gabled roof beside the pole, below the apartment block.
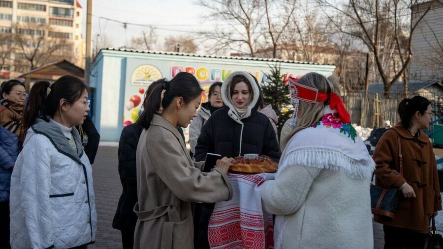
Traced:
<svg viewBox="0 0 443 249">
<path fill-rule="evenodd" d="M 19 78 L 55 80 L 63 75 L 72 75 L 83 80 L 85 70 L 63 59 L 32 69 L 19 75 Z"/>
</svg>

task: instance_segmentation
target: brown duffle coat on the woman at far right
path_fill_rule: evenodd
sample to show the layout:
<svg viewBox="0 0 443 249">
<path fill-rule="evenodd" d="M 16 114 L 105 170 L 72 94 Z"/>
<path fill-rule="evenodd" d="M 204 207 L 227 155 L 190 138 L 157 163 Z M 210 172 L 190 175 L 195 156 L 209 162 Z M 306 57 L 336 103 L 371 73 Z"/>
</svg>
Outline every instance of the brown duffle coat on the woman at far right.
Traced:
<svg viewBox="0 0 443 249">
<path fill-rule="evenodd" d="M 403 194 L 390 219 L 374 215 L 374 221 L 396 227 L 403 227 L 419 233 L 428 233 L 431 215 L 442 210 L 439 179 L 434 151 L 429 137 L 419 131 L 414 138 L 409 131 L 396 124 L 392 129 L 400 136 L 403 155 L 403 174 L 400 174 L 398 140 L 393 130 L 386 131 L 374 151 L 376 185 L 384 189 L 399 189 L 405 182 L 413 188 L 416 197 L 405 198 Z"/>
</svg>

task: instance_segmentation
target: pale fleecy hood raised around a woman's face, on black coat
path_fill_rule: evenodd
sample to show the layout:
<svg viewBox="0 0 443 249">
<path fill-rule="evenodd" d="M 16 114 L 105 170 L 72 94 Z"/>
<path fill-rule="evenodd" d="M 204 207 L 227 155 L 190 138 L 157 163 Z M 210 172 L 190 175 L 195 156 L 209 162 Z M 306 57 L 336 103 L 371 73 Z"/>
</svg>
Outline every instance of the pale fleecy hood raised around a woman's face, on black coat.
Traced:
<svg viewBox="0 0 443 249">
<path fill-rule="evenodd" d="M 237 111 L 235 111 L 235 105 L 229 96 L 229 83 L 231 82 L 232 78 L 237 75 L 242 75 L 248 79 L 248 81 L 251 83 L 251 90 L 253 93 L 253 98 L 250 100 L 246 113 L 243 117 L 240 117 Z M 258 107 L 261 104 L 261 95 L 261 88 L 258 85 L 257 79 L 255 79 L 255 77 L 253 77 L 250 73 L 244 71 L 232 72 L 230 75 L 228 75 L 228 77 L 226 77 L 221 85 L 221 98 L 225 105 L 224 108 L 228 111 L 228 115 L 239 124 L 242 124 L 241 119 L 248 118 L 257 112 Z"/>
</svg>

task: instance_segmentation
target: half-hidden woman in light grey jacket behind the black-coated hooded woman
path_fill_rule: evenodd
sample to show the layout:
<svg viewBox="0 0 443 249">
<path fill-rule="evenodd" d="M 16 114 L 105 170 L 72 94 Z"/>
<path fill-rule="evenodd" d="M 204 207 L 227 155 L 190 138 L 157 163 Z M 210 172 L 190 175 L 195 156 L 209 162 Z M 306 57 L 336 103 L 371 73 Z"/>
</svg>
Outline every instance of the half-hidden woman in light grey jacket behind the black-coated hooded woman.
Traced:
<svg viewBox="0 0 443 249">
<path fill-rule="evenodd" d="M 203 125 L 205 125 L 212 113 L 223 107 L 223 101 L 221 100 L 221 84 L 221 82 L 215 82 L 209 87 L 208 102 L 201 104 L 200 109 L 197 111 L 197 116 L 189 125 L 191 155 L 195 154 L 195 145 L 197 145 L 197 139 L 198 136 L 200 136 Z"/>
</svg>

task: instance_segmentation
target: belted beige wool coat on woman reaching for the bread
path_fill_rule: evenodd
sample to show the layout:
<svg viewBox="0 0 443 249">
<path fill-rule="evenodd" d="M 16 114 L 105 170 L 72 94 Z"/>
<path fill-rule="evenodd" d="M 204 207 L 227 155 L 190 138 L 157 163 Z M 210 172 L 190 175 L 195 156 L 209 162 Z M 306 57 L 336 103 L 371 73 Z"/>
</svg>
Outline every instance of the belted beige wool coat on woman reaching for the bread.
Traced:
<svg viewBox="0 0 443 249">
<path fill-rule="evenodd" d="M 219 168 L 195 167 L 177 129 L 155 114 L 137 145 L 137 194 L 134 249 L 192 249 L 191 202 L 230 200 L 232 186 Z"/>
</svg>

